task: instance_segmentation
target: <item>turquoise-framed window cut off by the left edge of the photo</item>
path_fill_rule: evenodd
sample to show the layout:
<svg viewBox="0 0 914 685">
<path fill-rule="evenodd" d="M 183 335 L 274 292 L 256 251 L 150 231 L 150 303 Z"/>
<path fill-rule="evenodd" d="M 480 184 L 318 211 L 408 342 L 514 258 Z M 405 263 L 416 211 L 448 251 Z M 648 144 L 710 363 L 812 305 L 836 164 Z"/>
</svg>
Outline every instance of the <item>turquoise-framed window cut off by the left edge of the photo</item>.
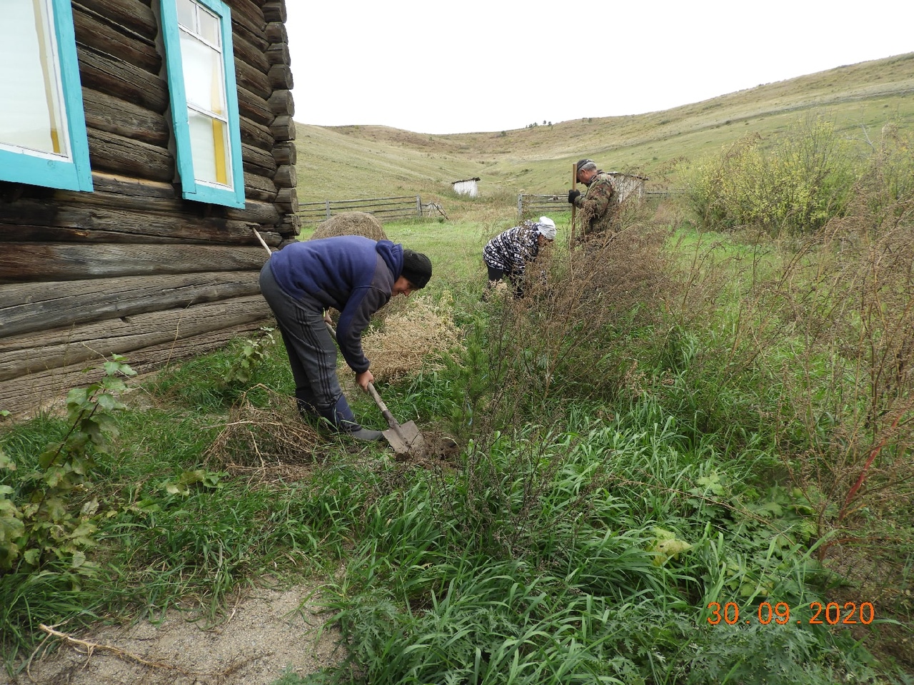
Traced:
<svg viewBox="0 0 914 685">
<path fill-rule="evenodd" d="M 92 189 L 70 0 L 0 0 L 0 181 Z"/>
</svg>

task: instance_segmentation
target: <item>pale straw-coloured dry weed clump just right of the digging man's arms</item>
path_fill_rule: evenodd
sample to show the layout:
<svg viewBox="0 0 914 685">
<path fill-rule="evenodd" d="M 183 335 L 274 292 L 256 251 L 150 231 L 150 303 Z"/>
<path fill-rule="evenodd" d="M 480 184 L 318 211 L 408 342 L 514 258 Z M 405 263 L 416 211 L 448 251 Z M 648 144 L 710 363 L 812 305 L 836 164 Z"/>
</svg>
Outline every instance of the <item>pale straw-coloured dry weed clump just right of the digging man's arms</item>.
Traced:
<svg viewBox="0 0 914 685">
<path fill-rule="evenodd" d="M 422 296 L 407 301 L 407 307 L 387 312 L 382 328 L 362 337 L 371 372 L 378 380 L 392 381 L 441 368 L 445 355 L 461 344 L 449 293 L 437 303 Z"/>
</svg>

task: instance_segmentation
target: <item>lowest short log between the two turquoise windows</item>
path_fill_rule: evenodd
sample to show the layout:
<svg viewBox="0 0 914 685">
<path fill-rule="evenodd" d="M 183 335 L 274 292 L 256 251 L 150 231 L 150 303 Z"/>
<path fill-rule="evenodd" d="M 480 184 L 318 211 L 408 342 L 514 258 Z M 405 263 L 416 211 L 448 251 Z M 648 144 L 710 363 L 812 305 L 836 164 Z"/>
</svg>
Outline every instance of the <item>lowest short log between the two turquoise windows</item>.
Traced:
<svg viewBox="0 0 914 685">
<path fill-rule="evenodd" d="M 86 133 L 93 169 L 150 181 L 170 181 L 175 177 L 175 158 L 165 147 L 97 129 Z"/>
</svg>

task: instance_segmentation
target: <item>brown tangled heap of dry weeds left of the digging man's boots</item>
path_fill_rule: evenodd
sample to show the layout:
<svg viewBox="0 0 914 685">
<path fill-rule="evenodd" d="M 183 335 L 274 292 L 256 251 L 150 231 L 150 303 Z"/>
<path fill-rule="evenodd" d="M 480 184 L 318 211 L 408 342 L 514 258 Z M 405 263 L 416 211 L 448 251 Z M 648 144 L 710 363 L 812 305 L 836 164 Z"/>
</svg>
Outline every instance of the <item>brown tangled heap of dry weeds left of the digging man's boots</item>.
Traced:
<svg viewBox="0 0 914 685">
<path fill-rule="evenodd" d="M 267 406 L 255 406 L 248 396 L 252 391 L 266 393 Z M 232 406 L 228 423 L 206 456 L 226 467 L 267 468 L 312 461 L 320 441 L 314 427 L 298 416 L 294 399 L 255 385 Z"/>
</svg>

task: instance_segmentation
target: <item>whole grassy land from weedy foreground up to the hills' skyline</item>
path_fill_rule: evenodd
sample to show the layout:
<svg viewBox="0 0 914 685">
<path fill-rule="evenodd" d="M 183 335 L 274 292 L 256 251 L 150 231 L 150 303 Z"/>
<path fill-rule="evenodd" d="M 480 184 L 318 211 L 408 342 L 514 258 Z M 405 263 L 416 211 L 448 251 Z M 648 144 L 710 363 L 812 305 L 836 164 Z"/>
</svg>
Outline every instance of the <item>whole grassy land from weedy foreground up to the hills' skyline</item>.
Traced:
<svg viewBox="0 0 914 685">
<path fill-rule="evenodd" d="M 914 681 L 912 78 L 909 55 L 504 136 L 301 125 L 301 199 L 448 212 L 385 225 L 435 273 L 365 337 L 430 453 L 303 424 L 269 330 L 142 380 L 112 359 L 66 414 L 0 417 L 5 669 L 39 623 L 218 624 L 318 579 L 345 661 L 277 684 Z M 525 297 L 483 298 L 516 193 L 585 154 L 680 192 L 587 248 L 555 215 Z"/>
</svg>

